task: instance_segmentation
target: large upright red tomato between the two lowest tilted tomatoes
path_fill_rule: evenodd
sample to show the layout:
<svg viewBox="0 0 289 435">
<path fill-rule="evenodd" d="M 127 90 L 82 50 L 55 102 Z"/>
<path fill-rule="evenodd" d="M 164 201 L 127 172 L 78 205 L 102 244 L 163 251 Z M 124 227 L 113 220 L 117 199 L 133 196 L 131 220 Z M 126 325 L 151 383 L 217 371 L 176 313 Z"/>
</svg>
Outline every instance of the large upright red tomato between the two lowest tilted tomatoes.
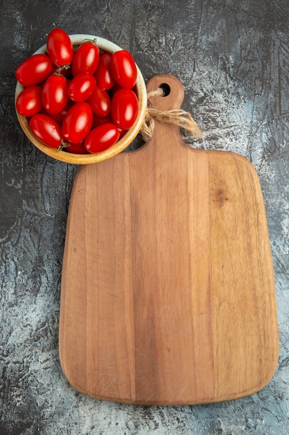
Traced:
<svg viewBox="0 0 289 435">
<path fill-rule="evenodd" d="M 81 142 L 92 125 L 92 109 L 85 101 L 73 104 L 62 121 L 62 136 L 73 143 Z"/>
</svg>

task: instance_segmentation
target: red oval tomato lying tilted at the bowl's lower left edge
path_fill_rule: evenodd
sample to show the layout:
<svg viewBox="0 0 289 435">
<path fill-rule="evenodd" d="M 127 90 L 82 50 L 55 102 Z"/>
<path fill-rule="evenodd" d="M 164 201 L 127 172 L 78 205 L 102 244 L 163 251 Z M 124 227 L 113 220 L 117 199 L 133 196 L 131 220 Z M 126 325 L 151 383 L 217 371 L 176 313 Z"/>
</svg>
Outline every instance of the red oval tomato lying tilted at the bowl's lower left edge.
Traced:
<svg viewBox="0 0 289 435">
<path fill-rule="evenodd" d="M 30 130 L 45 145 L 52 148 L 61 146 L 60 125 L 51 117 L 37 113 L 29 121 Z"/>
</svg>

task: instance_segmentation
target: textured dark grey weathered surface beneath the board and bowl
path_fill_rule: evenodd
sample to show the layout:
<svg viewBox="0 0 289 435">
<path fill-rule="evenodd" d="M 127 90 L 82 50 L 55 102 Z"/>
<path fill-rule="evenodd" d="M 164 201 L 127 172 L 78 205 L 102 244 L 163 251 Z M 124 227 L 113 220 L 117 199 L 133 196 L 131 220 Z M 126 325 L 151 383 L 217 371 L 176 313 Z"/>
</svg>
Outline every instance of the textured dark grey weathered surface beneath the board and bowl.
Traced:
<svg viewBox="0 0 289 435">
<path fill-rule="evenodd" d="M 0 434 L 289 433 L 289 2 L 1 0 Z M 53 161 L 15 117 L 15 68 L 54 26 L 132 52 L 146 80 L 175 74 L 204 149 L 252 161 L 276 277 L 280 356 L 263 391 L 234 402 L 143 407 L 67 384 L 58 359 L 67 205 L 78 167 Z M 132 147 L 137 147 L 135 140 Z"/>
</svg>

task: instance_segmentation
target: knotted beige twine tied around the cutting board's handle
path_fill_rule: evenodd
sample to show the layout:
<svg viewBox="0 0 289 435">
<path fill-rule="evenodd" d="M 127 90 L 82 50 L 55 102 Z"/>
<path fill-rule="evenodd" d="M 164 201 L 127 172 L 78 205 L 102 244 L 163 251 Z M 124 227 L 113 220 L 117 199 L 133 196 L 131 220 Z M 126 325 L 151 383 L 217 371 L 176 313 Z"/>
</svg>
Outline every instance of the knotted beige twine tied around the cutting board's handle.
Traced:
<svg viewBox="0 0 289 435">
<path fill-rule="evenodd" d="M 158 88 L 148 92 L 148 99 L 157 96 L 164 97 L 164 90 Z M 155 130 L 155 121 L 175 124 L 182 127 L 186 133 L 195 136 L 197 139 L 202 137 L 202 131 L 189 112 L 185 112 L 182 109 L 161 110 L 153 108 L 148 104 L 146 115 L 140 130 L 141 136 L 145 142 L 148 142 L 148 140 L 152 138 L 152 134 Z"/>
</svg>

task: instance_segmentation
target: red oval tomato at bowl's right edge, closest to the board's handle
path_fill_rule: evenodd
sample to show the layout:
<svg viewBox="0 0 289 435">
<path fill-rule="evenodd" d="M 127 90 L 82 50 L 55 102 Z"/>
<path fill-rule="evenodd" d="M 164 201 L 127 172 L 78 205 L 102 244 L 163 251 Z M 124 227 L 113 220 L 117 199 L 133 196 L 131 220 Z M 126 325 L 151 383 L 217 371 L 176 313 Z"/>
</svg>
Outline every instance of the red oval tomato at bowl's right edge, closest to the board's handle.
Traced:
<svg viewBox="0 0 289 435">
<path fill-rule="evenodd" d="M 139 101 L 131 89 L 120 89 L 112 97 L 112 122 L 119 129 L 130 129 L 138 111 Z"/>
</svg>

